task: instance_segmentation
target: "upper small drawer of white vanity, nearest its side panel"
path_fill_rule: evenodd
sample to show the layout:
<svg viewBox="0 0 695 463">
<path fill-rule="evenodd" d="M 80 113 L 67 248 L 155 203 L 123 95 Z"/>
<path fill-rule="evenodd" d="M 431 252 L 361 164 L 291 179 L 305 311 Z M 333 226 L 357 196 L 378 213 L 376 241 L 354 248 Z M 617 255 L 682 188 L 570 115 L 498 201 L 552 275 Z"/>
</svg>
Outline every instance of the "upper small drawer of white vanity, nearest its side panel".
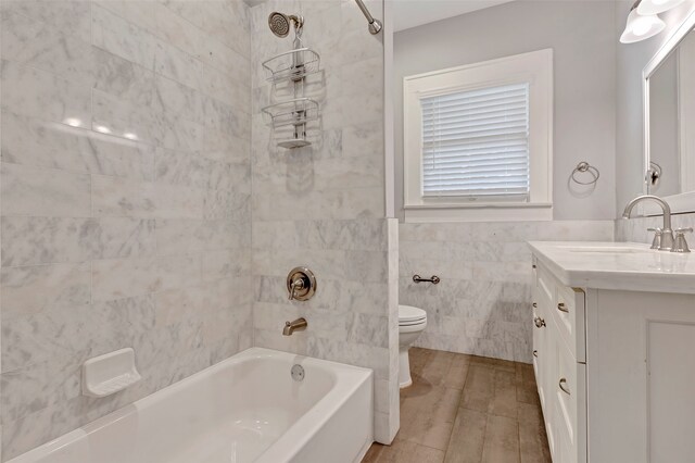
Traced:
<svg viewBox="0 0 695 463">
<path fill-rule="evenodd" d="M 577 362 L 586 362 L 585 295 L 582 289 L 555 286 L 551 309 L 559 336 Z"/>
</svg>

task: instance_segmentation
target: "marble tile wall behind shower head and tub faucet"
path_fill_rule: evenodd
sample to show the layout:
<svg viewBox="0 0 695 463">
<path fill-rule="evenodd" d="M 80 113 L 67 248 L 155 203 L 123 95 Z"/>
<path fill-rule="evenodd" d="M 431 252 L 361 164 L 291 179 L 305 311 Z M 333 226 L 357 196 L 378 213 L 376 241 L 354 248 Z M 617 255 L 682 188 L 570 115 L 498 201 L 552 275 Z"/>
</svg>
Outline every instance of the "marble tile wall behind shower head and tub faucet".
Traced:
<svg viewBox="0 0 695 463">
<path fill-rule="evenodd" d="M 381 0 L 369 3 L 378 14 Z M 304 16 L 304 45 L 323 72 L 306 80 L 320 103 L 307 148 L 276 142 L 261 108 L 293 97 L 266 82 L 261 63 L 292 47 L 268 14 Z M 397 224 L 386 220 L 383 45 L 359 9 L 342 0 L 271 0 L 251 9 L 253 75 L 254 343 L 375 370 L 375 431 L 390 442 L 399 426 L 396 262 Z M 288 301 L 288 272 L 305 265 L 319 290 L 307 302 Z M 281 335 L 304 316 L 306 331 Z"/>
</svg>

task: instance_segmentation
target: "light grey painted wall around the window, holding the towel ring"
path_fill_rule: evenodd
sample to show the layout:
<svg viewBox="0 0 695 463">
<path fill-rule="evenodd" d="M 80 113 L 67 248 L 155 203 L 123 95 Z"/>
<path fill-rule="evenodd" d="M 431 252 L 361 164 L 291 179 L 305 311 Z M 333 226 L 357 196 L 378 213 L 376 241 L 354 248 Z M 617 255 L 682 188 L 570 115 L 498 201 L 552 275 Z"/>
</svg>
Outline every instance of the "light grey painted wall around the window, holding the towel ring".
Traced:
<svg viewBox="0 0 695 463">
<path fill-rule="evenodd" d="M 554 218 L 615 216 L 614 1 L 515 1 L 395 35 L 395 201 L 403 216 L 403 77 L 544 48 L 555 51 Z M 599 168 L 592 195 L 568 177 L 580 162 Z"/>
</svg>

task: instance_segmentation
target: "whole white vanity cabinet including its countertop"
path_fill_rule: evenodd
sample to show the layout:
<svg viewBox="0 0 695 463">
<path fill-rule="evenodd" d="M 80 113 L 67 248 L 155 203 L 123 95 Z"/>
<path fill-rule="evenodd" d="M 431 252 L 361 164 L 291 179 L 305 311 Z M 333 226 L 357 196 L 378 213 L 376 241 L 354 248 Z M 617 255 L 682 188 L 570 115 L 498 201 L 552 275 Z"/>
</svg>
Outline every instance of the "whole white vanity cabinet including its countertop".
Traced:
<svg viewBox="0 0 695 463">
<path fill-rule="evenodd" d="M 695 462 L 695 255 L 531 245 L 533 367 L 553 461 Z"/>
</svg>

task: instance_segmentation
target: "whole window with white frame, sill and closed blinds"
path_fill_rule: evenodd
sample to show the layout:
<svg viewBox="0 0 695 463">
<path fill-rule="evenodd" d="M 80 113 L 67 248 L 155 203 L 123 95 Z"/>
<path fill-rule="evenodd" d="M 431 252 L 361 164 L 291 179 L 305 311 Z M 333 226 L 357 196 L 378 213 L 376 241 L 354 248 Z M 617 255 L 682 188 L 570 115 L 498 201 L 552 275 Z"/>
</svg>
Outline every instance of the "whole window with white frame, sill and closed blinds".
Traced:
<svg viewBox="0 0 695 463">
<path fill-rule="evenodd" d="M 406 221 L 552 218 L 552 57 L 404 79 Z"/>
</svg>

